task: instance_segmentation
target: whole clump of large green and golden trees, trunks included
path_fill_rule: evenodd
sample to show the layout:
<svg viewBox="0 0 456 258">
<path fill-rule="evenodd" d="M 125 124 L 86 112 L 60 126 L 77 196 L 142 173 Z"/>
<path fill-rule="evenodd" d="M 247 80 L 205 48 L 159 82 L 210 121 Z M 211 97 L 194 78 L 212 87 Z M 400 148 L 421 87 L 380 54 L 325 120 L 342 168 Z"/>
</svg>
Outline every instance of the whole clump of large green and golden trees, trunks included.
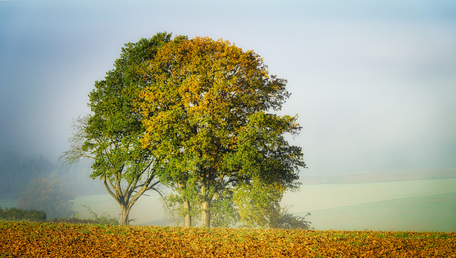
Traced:
<svg viewBox="0 0 456 258">
<path fill-rule="evenodd" d="M 196 212 L 203 227 L 276 224 L 306 167 L 284 138 L 299 133 L 297 116 L 273 113 L 290 96 L 287 81 L 222 39 L 164 32 L 125 46 L 89 93 L 92 113 L 73 124 L 66 162 L 94 160 L 91 177 L 119 203 L 121 224 L 158 183 L 176 191 L 187 227 Z"/>
</svg>

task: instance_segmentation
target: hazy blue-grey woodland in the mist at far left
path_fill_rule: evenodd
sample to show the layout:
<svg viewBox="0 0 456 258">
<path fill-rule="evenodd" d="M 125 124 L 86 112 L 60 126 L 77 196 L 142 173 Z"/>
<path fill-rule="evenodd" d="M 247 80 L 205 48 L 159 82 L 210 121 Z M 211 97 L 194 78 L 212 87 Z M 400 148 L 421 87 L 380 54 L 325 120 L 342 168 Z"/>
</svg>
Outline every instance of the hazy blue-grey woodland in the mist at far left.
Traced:
<svg viewBox="0 0 456 258">
<path fill-rule="evenodd" d="M 12 155 L 0 160 L 0 198 L 17 200 L 17 207 L 3 211 L 9 214 L 3 219 L 24 216 L 41 221 L 36 212 L 43 212 L 47 219 L 72 216 L 77 213 L 73 210 L 77 196 L 104 193 L 99 183 L 88 177 L 91 173 L 88 162 L 66 170 L 62 161 L 52 163 L 43 157 Z"/>
</svg>

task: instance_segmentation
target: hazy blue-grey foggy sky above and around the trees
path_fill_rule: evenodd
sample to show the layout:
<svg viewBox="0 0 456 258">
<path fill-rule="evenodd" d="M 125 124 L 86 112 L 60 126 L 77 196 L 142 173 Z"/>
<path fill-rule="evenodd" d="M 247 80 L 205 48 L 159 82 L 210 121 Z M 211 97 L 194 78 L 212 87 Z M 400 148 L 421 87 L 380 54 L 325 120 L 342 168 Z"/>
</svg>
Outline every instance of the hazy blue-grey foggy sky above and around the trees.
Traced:
<svg viewBox="0 0 456 258">
<path fill-rule="evenodd" d="M 0 1 L 0 157 L 67 150 L 127 42 L 253 49 L 292 93 L 301 175 L 456 167 L 455 1 Z"/>
</svg>

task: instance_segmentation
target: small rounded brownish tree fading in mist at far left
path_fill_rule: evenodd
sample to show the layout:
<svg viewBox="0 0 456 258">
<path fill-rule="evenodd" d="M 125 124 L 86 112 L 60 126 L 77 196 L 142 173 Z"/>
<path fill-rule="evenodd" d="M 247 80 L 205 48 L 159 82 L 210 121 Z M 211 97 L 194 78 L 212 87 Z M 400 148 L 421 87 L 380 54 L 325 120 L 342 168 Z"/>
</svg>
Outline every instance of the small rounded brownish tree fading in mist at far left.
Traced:
<svg viewBox="0 0 456 258">
<path fill-rule="evenodd" d="M 47 218 L 69 217 L 73 211 L 76 195 L 63 183 L 62 179 L 47 180 L 38 178 L 30 182 L 27 190 L 17 201 L 21 209 L 37 209 L 46 212 Z"/>
</svg>

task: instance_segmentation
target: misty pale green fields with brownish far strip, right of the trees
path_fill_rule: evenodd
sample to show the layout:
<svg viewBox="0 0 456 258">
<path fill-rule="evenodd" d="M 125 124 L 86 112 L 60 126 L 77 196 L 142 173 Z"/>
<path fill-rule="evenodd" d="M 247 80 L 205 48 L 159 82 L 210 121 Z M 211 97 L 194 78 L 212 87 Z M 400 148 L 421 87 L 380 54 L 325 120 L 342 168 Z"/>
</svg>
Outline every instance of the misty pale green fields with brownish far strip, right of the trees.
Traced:
<svg viewBox="0 0 456 258">
<path fill-rule="evenodd" d="M 318 230 L 456 231 L 456 178 L 423 180 L 442 177 L 456 177 L 456 169 L 308 178 L 282 205 L 294 204 L 295 215 L 311 212 L 306 219 Z M 359 183 L 366 181 L 384 182 Z"/>
</svg>

